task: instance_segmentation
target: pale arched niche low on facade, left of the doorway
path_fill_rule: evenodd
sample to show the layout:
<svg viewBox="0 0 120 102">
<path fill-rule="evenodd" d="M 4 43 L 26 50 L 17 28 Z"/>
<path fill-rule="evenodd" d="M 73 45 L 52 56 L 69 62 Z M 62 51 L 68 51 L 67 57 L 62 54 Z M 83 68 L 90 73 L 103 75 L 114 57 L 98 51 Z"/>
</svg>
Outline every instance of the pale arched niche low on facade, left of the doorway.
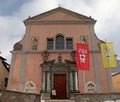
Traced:
<svg viewBox="0 0 120 102">
<path fill-rule="evenodd" d="M 34 83 L 34 82 L 28 81 L 28 82 L 25 84 L 25 92 L 33 93 L 33 92 L 35 92 L 35 89 L 36 89 L 36 86 L 35 86 L 35 83 Z"/>
</svg>

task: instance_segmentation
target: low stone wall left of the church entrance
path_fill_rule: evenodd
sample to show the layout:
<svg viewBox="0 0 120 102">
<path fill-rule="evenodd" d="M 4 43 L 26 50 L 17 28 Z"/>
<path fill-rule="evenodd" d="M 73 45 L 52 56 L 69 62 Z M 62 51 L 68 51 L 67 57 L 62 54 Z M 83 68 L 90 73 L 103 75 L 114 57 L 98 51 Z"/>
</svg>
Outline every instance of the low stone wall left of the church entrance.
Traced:
<svg viewBox="0 0 120 102">
<path fill-rule="evenodd" d="M 40 102 L 40 94 L 0 91 L 0 102 Z"/>
</svg>

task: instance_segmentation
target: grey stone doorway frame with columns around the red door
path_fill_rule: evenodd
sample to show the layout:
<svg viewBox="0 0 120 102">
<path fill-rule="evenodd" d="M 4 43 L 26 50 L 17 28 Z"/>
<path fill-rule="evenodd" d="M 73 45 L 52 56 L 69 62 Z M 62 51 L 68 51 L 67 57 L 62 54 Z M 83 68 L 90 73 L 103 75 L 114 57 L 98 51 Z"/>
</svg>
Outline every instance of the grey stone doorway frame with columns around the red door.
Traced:
<svg viewBox="0 0 120 102">
<path fill-rule="evenodd" d="M 76 69 L 76 63 L 74 61 L 65 60 L 61 62 L 59 60 L 55 63 L 55 60 L 45 61 L 41 64 L 42 67 L 42 99 L 51 99 L 51 90 L 53 88 L 53 76 L 54 74 L 66 74 L 66 89 L 67 98 L 75 99 L 75 93 L 79 93 L 78 89 L 78 72 Z M 72 81 L 72 80 L 75 80 Z"/>
</svg>

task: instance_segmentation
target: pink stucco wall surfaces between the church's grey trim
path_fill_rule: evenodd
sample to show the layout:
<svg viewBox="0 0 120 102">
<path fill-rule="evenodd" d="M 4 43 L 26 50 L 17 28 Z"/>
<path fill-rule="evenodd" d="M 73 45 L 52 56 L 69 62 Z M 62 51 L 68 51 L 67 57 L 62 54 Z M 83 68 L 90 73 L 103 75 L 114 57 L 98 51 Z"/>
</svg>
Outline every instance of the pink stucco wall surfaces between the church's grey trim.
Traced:
<svg viewBox="0 0 120 102">
<path fill-rule="evenodd" d="M 69 15 L 66 15 L 62 12 L 52 13 L 44 17 L 36 17 L 36 19 L 39 21 L 48 21 L 48 20 L 79 20 L 83 19 L 84 17 L 77 17 L 72 15 L 71 13 Z M 32 20 L 31 20 L 32 21 Z M 28 25 L 26 25 L 27 27 Z M 25 63 L 25 80 L 24 83 L 26 83 L 29 80 L 32 80 L 36 84 L 36 92 L 40 92 L 42 87 L 42 68 L 41 64 L 43 63 L 42 56 L 40 54 L 40 51 L 44 51 L 47 48 L 47 38 L 55 38 L 57 34 L 63 34 L 64 38 L 73 38 L 73 50 L 76 49 L 76 43 L 80 43 L 80 36 L 88 36 L 88 44 L 89 44 L 89 50 L 92 50 L 92 43 L 91 43 L 91 31 L 90 31 L 90 24 L 29 24 L 29 31 L 27 31 L 29 34 L 28 37 L 27 34 L 24 36 L 24 38 L 20 41 L 21 44 L 23 44 L 23 49 L 25 42 L 27 42 L 27 49 L 24 51 L 29 51 L 26 54 L 26 63 Z M 93 26 L 94 27 L 94 26 Z M 94 28 L 92 28 L 94 29 Z M 38 36 L 38 50 L 37 52 L 31 51 L 31 39 L 33 36 Z M 94 34 L 96 37 L 96 35 Z M 27 40 L 28 39 L 28 40 Z M 99 43 L 100 41 L 95 38 L 94 43 Z M 30 52 L 31 51 L 31 52 Z M 11 85 L 9 89 L 15 89 L 19 90 L 18 84 L 20 79 L 20 71 L 21 71 L 21 64 L 22 62 L 22 53 L 16 54 L 16 60 L 12 63 L 13 64 L 13 75 L 11 77 Z M 63 52 L 62 53 L 62 61 L 64 62 L 65 59 L 72 60 L 70 56 L 70 52 Z M 56 59 L 57 61 L 58 53 L 52 52 L 50 53 L 49 60 Z M 102 92 L 109 92 L 109 86 L 107 80 L 107 70 L 103 68 L 101 54 L 97 54 L 98 57 L 98 63 L 100 67 L 100 81 L 102 84 Z M 84 92 L 84 71 L 78 71 L 78 84 L 79 84 L 79 90 L 80 92 Z M 85 81 L 93 81 L 96 82 L 95 77 L 95 66 L 94 66 L 94 58 L 93 54 L 90 54 L 90 70 L 85 71 Z"/>
</svg>

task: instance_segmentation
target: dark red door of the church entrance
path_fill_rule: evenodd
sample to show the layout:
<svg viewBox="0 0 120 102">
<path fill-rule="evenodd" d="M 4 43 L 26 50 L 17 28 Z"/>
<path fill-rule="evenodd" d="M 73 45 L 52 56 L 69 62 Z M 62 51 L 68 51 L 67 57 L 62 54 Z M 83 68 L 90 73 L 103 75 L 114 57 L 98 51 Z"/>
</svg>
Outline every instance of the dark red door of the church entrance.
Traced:
<svg viewBox="0 0 120 102">
<path fill-rule="evenodd" d="M 66 99 L 66 74 L 54 74 L 54 89 L 57 99 Z"/>
</svg>

